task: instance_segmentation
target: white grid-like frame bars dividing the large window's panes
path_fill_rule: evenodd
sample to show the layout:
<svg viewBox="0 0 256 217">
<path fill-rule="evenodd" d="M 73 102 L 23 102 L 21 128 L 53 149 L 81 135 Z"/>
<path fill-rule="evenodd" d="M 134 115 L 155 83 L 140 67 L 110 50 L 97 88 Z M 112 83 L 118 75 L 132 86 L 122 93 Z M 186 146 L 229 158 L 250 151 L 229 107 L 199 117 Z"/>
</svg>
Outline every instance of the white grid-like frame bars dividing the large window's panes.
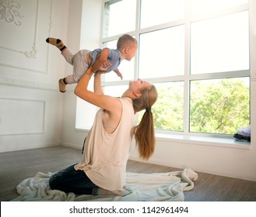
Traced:
<svg viewBox="0 0 256 217">
<path fill-rule="evenodd" d="M 185 0 L 186 3 L 186 11 L 188 12 L 189 7 L 190 7 L 190 1 L 191 0 Z M 119 36 L 123 35 L 124 33 L 118 34 L 118 35 L 114 35 L 114 36 L 106 36 L 106 34 L 104 34 L 104 28 L 105 28 L 105 24 L 106 24 L 106 14 L 104 12 L 105 9 L 105 5 L 107 2 L 119 2 L 119 1 L 113 1 L 113 0 L 105 0 L 103 1 L 103 24 L 102 24 L 102 38 L 100 43 L 102 44 L 102 47 L 104 43 L 113 41 L 113 40 L 117 40 L 119 38 Z M 150 27 L 146 27 L 143 29 L 140 29 L 140 11 L 141 11 L 141 1 L 140 0 L 136 0 L 136 19 L 135 19 L 135 30 L 131 31 L 131 32 L 127 32 L 128 34 L 135 36 L 135 38 L 139 41 L 139 36 L 142 33 L 149 33 L 152 31 L 156 31 L 158 29 L 165 29 L 165 28 L 169 28 L 172 26 L 180 26 L 180 25 L 184 25 L 185 26 L 185 42 L 184 42 L 184 49 L 185 49 L 185 55 L 184 55 L 184 75 L 178 75 L 178 76 L 174 76 L 174 77 L 156 77 L 156 78 L 146 78 L 147 81 L 153 82 L 153 83 L 161 83 L 161 82 L 174 82 L 174 81 L 184 81 L 184 129 L 183 132 L 177 132 L 177 131 L 162 131 L 162 130 L 156 130 L 156 136 L 158 136 L 158 138 L 162 138 L 163 140 L 165 139 L 169 139 L 169 138 L 177 138 L 177 139 L 183 139 L 183 138 L 191 138 L 191 136 L 194 136 L 195 140 L 201 140 L 198 138 L 202 138 L 202 137 L 216 137 L 217 139 L 219 138 L 223 138 L 224 140 L 228 141 L 227 143 L 233 143 L 233 136 L 231 135 L 219 135 L 219 134 L 209 134 L 209 133 L 190 133 L 189 132 L 189 98 L 190 98 L 190 81 L 196 81 L 196 80 L 205 80 L 205 79 L 218 79 L 218 78 L 231 78 L 231 77 L 251 77 L 251 68 L 249 68 L 248 70 L 242 70 L 242 71 L 233 71 L 232 74 L 230 74 L 230 71 L 226 71 L 226 72 L 221 72 L 221 73 L 211 73 L 211 74 L 190 74 L 190 60 L 191 60 L 191 56 L 190 56 L 190 33 L 191 33 L 191 22 L 197 22 L 199 20 L 202 19 L 211 19 L 214 17 L 217 17 L 219 15 L 228 15 L 231 14 L 233 12 L 244 12 L 244 11 L 249 11 L 249 15 L 250 15 L 250 43 L 255 43 L 254 42 L 254 38 L 252 37 L 252 26 L 251 22 L 251 12 L 253 7 L 253 3 L 251 3 L 251 0 L 249 0 L 248 4 L 244 4 L 244 5 L 240 5 L 238 7 L 235 7 L 234 9 L 231 10 L 223 10 L 222 12 L 216 12 L 216 13 L 211 13 L 211 14 L 206 14 L 206 15 L 198 15 L 195 17 L 190 17 L 188 14 L 185 16 L 184 19 L 179 19 L 176 20 L 174 22 L 167 22 L 167 23 L 163 23 L 160 25 L 156 25 L 156 26 L 150 26 Z M 255 10 L 254 10 L 255 12 Z M 250 46 L 251 48 L 251 46 Z M 254 54 L 252 53 L 252 51 L 250 52 L 250 62 L 252 62 L 254 57 Z M 134 79 L 137 79 L 139 76 L 139 54 L 137 54 L 135 56 L 134 59 L 135 62 L 135 67 L 134 67 Z M 107 76 L 107 75 L 106 75 Z M 102 86 L 103 87 L 110 87 L 110 86 L 118 86 L 118 85 L 128 85 L 128 80 L 124 81 L 102 81 Z M 200 136 L 200 137 L 198 137 Z M 232 139 L 232 141 L 230 140 Z M 206 139 L 208 140 L 208 139 Z"/>
</svg>

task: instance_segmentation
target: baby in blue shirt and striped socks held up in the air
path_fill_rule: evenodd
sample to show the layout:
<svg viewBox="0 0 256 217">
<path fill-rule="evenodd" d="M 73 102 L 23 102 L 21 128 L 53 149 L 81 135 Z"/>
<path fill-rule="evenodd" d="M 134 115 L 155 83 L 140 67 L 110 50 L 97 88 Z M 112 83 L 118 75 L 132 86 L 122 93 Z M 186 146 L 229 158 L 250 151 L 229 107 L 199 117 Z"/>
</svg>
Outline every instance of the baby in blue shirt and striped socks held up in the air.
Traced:
<svg viewBox="0 0 256 217">
<path fill-rule="evenodd" d="M 123 75 L 117 67 L 121 63 L 121 60 L 132 60 L 138 50 L 137 40 L 128 34 L 121 36 L 117 40 L 117 49 L 99 48 L 93 51 L 79 50 L 75 55 L 59 39 L 47 38 L 46 42 L 58 47 L 65 60 L 73 66 L 73 74 L 61 78 L 58 81 L 59 91 L 63 93 L 66 91 L 66 84 L 79 82 L 82 74 L 85 74 L 87 69 L 93 65 L 96 58 L 100 58 L 100 67 L 106 68 L 107 72 L 114 71 L 118 77 L 123 79 Z"/>
</svg>

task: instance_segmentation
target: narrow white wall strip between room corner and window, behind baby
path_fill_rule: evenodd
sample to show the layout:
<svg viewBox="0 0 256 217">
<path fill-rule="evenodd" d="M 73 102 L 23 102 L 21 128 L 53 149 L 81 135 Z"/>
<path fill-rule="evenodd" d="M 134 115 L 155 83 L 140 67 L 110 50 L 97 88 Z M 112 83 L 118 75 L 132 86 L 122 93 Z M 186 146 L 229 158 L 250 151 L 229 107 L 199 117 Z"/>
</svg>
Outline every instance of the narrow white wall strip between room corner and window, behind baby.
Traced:
<svg viewBox="0 0 256 217">
<path fill-rule="evenodd" d="M 71 2 L 72 4 L 69 6 L 68 48 L 75 53 L 80 49 L 94 50 L 100 47 L 102 1 L 76 0 Z M 66 65 L 65 72 L 71 74 L 72 67 Z M 68 86 L 68 91 L 65 93 L 62 144 L 82 149 L 86 133 L 75 129 L 76 96 L 74 88 L 75 84 Z"/>
</svg>

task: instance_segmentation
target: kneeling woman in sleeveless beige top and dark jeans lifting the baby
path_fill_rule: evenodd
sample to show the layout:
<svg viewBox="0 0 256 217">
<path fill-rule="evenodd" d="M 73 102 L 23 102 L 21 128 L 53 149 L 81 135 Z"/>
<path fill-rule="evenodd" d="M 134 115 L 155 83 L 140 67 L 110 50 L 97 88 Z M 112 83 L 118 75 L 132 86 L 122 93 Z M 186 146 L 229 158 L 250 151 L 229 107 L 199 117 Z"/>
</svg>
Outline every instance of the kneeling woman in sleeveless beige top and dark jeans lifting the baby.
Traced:
<svg viewBox="0 0 256 217">
<path fill-rule="evenodd" d="M 135 136 L 139 156 L 148 160 L 155 149 L 152 105 L 157 91 L 153 84 L 138 79 L 130 81 L 121 98 L 103 95 L 96 61 L 89 67 L 75 88 L 75 95 L 101 109 L 86 138 L 82 162 L 54 174 L 51 189 L 73 192 L 76 195 L 127 195 L 126 164 Z M 87 89 L 94 77 L 94 92 Z M 142 120 L 135 126 L 135 113 L 145 109 Z"/>
</svg>

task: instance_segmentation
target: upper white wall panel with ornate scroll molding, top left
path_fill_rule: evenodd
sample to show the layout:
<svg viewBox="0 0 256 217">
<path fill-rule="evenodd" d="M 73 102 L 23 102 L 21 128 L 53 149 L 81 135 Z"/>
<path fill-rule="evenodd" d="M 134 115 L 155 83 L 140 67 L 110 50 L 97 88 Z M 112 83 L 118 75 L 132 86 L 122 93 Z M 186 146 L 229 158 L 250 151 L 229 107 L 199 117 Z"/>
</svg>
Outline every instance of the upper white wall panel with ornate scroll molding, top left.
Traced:
<svg viewBox="0 0 256 217">
<path fill-rule="evenodd" d="M 50 0 L 0 1 L 0 66 L 47 73 Z"/>
</svg>

